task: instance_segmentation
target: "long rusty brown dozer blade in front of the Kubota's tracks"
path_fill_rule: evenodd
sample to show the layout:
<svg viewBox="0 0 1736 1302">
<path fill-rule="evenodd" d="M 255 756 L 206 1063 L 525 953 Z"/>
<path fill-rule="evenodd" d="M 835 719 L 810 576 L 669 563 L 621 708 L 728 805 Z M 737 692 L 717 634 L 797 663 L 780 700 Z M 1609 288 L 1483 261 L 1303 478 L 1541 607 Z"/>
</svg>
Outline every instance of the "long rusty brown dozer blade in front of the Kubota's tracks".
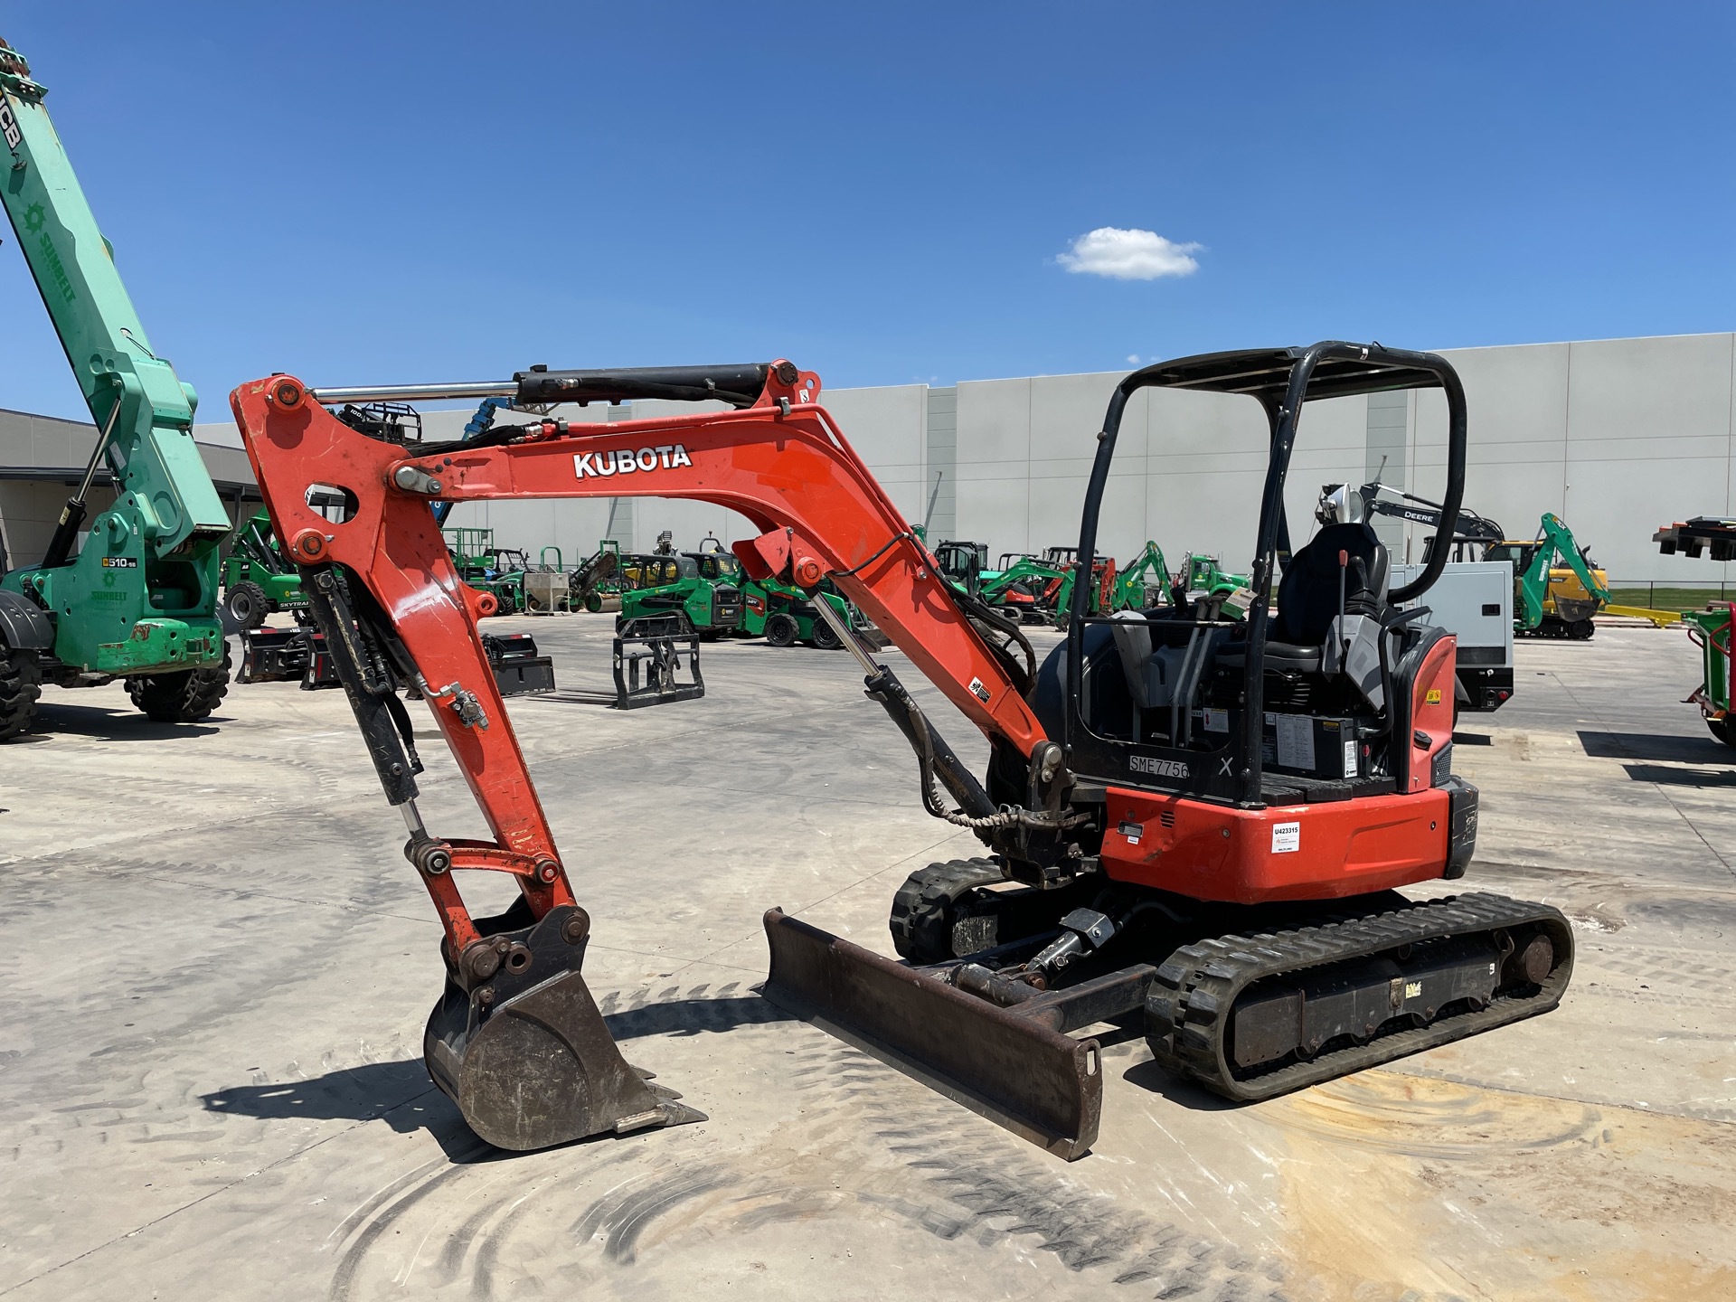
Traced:
<svg viewBox="0 0 1736 1302">
<path fill-rule="evenodd" d="M 766 913 L 764 996 L 1071 1161 L 1097 1139 L 1095 1040 L 965 995 L 806 922 Z"/>
</svg>

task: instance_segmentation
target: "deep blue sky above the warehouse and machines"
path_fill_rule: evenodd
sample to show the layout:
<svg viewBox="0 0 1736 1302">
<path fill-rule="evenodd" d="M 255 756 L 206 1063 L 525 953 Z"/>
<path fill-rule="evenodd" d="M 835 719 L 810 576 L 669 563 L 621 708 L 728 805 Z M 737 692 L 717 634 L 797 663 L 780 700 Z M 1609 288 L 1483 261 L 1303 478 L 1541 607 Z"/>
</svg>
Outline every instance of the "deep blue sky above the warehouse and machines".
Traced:
<svg viewBox="0 0 1736 1302">
<path fill-rule="evenodd" d="M 205 420 L 276 370 L 844 387 L 1736 328 L 1729 3 L 0 17 Z M 82 415 L 5 234 L 0 406 Z"/>
</svg>

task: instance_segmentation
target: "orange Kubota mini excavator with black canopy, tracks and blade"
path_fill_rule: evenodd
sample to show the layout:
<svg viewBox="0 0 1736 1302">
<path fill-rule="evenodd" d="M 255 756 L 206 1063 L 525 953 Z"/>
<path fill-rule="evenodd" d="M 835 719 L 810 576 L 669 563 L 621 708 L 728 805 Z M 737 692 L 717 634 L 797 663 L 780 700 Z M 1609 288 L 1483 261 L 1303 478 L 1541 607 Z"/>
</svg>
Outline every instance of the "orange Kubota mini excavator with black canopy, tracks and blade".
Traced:
<svg viewBox="0 0 1736 1302">
<path fill-rule="evenodd" d="M 898 892 L 891 927 L 904 962 L 771 910 L 764 995 L 1052 1153 L 1075 1158 L 1097 1134 L 1097 1040 L 1073 1033 L 1102 1023 L 1139 1019 L 1163 1068 L 1250 1101 L 1559 1003 L 1573 965 L 1559 911 L 1396 892 L 1462 877 L 1476 844 L 1477 793 L 1451 771 L 1455 642 L 1425 608 L 1399 608 L 1427 592 L 1446 552 L 1391 587 L 1366 524 L 1321 528 L 1292 554 L 1285 521 L 1309 399 L 1422 387 L 1446 396 L 1444 510 L 1457 512 L 1465 398 L 1453 368 L 1328 342 L 1134 372 L 1097 436 L 1082 568 L 1095 559 L 1121 413 L 1144 387 L 1245 394 L 1264 408 L 1252 601 L 1236 613 L 1213 597 L 1094 615 L 1075 585 L 1066 642 L 1042 665 L 1016 621 L 946 583 L 819 406 L 819 378 L 788 361 L 370 391 L 274 375 L 234 391 L 273 528 L 302 566 L 387 800 L 410 828 L 404 854 L 444 924 L 427 1066 L 479 1135 L 533 1149 L 700 1115 L 627 1066 L 580 976 L 590 918 L 476 632 L 491 599 L 455 573 L 431 502 L 649 495 L 738 510 L 760 531 L 736 543 L 752 576 L 809 592 L 830 578 L 983 729 L 979 779 L 892 670 L 833 623 L 868 696 L 915 748 L 927 811 L 988 852 L 925 868 Z M 403 444 L 326 410 L 477 396 L 510 396 L 533 418 Z M 608 425 L 547 415 L 642 398 L 731 410 Z M 832 620 L 826 602 L 814 608 Z M 410 687 L 493 840 L 427 830 L 398 696 Z M 472 917 L 457 884 L 470 870 L 514 875 L 519 899 Z"/>
</svg>

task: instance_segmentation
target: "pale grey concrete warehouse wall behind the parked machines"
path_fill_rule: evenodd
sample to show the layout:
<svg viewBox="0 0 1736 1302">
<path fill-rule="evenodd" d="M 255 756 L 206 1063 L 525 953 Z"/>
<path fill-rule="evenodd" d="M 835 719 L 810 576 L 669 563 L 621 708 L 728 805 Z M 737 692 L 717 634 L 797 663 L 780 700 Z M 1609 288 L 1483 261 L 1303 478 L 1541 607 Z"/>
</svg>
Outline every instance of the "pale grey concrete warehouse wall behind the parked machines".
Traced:
<svg viewBox="0 0 1736 1302">
<path fill-rule="evenodd" d="M 1545 510 L 1573 526 L 1623 582 L 1717 583 L 1726 566 L 1660 556 L 1660 524 L 1722 516 L 1736 493 L 1736 333 L 1458 349 L 1470 408 L 1465 505 L 1529 538 Z M 828 389 L 825 406 L 930 536 L 986 542 L 991 556 L 1078 542 L 1080 502 L 1109 392 L 1121 372 L 967 380 L 957 387 Z M 689 404 L 569 408 L 569 420 L 620 420 Z M 1311 404 L 1286 481 L 1293 543 L 1314 529 L 1321 484 L 1364 483 L 1439 500 L 1446 467 L 1439 392 L 1375 394 Z M 457 434 L 467 411 L 427 413 Z M 201 425 L 207 443 L 238 444 L 233 427 Z M 1144 391 L 1128 403 L 1104 496 L 1101 549 L 1121 559 L 1147 538 L 1170 557 L 1212 552 L 1246 568 L 1266 474 L 1266 422 L 1245 398 Z M 939 477 L 939 493 L 934 493 Z M 677 547 L 734 542 L 748 521 L 722 507 L 663 498 L 467 503 L 453 524 L 495 528 L 533 557 L 556 543 L 568 562 L 613 531 L 648 550 L 661 529 Z M 1397 559 L 1422 554 L 1427 529 L 1382 523 Z"/>
</svg>

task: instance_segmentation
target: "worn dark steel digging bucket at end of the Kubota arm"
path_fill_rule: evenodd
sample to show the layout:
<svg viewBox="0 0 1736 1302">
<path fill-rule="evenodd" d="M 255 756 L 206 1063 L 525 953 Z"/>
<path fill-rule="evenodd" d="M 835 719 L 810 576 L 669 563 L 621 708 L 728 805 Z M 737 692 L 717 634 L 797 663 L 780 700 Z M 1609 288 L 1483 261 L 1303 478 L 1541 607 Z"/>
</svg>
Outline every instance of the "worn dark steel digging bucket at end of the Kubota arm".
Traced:
<svg viewBox="0 0 1736 1302">
<path fill-rule="evenodd" d="M 523 1153 L 705 1120 L 627 1066 L 580 976 L 589 930 L 585 913 L 564 906 L 490 936 L 498 969 L 469 991 L 448 976 L 429 1014 L 429 1076 L 496 1147 Z"/>
</svg>

